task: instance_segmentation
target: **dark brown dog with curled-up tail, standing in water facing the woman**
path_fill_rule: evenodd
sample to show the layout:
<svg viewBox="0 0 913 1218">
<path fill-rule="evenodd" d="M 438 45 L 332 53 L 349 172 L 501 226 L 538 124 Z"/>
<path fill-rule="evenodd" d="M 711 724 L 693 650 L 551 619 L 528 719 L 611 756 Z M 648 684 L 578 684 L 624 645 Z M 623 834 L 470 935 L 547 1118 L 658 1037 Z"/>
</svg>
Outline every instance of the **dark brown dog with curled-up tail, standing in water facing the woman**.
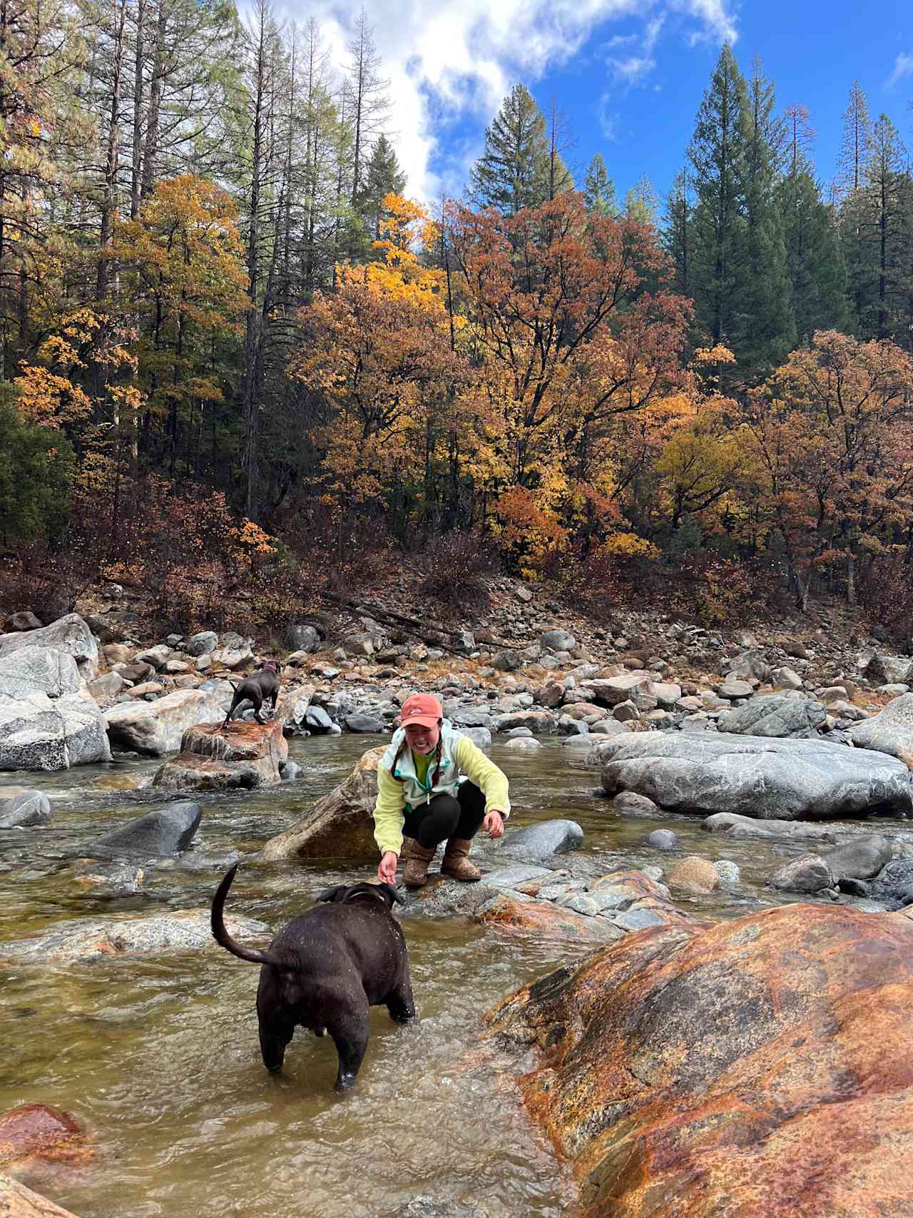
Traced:
<svg viewBox="0 0 913 1218">
<path fill-rule="evenodd" d="M 282 1067 L 296 1027 L 329 1032 L 340 1057 L 335 1089 L 355 1082 L 368 1049 L 368 1009 L 386 1006 L 405 1023 L 415 1017 L 405 938 L 391 910 L 403 898 L 392 884 L 338 884 L 293 917 L 267 951 L 242 948 L 229 935 L 223 907 L 237 864 L 212 903 L 215 942 L 240 960 L 262 965 L 257 989 L 261 1052 L 267 1069 Z"/>
</svg>

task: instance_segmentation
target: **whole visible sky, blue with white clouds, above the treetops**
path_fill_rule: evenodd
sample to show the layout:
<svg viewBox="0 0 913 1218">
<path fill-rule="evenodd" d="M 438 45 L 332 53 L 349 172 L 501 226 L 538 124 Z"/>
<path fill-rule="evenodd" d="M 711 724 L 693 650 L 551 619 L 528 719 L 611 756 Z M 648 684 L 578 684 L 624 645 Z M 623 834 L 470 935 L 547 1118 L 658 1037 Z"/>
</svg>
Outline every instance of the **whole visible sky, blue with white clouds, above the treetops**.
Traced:
<svg viewBox="0 0 913 1218">
<path fill-rule="evenodd" d="M 665 195 L 683 166 L 723 39 L 747 76 L 755 54 L 778 106 L 801 104 L 833 177 L 850 86 L 913 149 L 913 0 L 364 0 L 390 79 L 388 128 L 409 191 L 458 194 L 484 128 L 522 80 L 543 110 L 554 95 L 581 168 L 599 151 L 620 197 L 646 173 Z M 360 0 L 284 0 L 313 12 L 336 63 Z"/>
</svg>

